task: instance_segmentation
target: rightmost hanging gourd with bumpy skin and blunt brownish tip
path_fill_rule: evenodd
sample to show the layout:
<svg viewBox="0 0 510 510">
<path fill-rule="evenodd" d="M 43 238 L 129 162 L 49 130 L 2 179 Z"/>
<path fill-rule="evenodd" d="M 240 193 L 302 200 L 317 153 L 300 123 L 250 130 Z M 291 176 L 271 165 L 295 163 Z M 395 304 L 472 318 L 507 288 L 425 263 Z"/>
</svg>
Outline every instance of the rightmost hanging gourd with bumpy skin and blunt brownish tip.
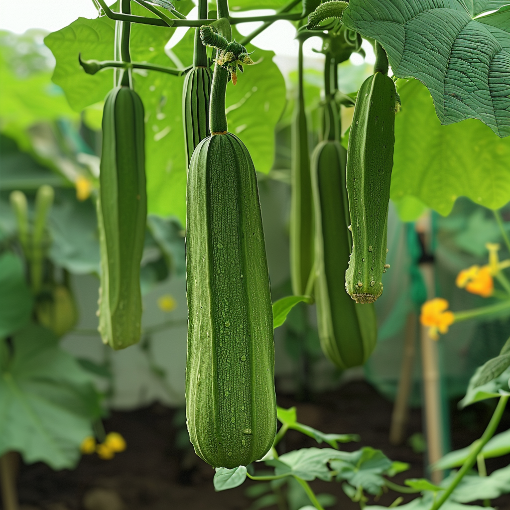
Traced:
<svg viewBox="0 0 510 510">
<path fill-rule="evenodd" d="M 347 148 L 352 253 L 345 288 L 358 303 L 382 294 L 395 144 L 395 84 L 376 72 L 358 92 Z"/>
</svg>

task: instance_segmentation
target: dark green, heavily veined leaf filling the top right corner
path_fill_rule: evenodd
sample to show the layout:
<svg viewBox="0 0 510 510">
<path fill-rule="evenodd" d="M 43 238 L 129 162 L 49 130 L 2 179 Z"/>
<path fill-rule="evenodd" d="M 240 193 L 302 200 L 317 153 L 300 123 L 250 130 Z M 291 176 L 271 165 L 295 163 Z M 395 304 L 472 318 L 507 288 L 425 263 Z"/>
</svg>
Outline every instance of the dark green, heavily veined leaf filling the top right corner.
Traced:
<svg viewBox="0 0 510 510">
<path fill-rule="evenodd" d="M 476 118 L 503 137 L 510 135 L 508 12 L 474 19 L 502 5 L 351 0 L 342 21 L 384 46 L 397 77 L 427 86 L 442 123 Z"/>
</svg>

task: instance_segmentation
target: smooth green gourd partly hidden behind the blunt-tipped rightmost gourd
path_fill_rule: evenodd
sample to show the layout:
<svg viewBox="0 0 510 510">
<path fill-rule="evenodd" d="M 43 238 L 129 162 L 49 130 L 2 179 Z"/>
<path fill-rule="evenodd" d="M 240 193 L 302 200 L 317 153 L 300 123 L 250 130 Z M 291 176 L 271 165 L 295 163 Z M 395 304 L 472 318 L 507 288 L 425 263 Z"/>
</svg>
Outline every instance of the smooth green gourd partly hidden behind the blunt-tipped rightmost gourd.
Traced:
<svg viewBox="0 0 510 510">
<path fill-rule="evenodd" d="M 322 351 L 341 369 L 363 365 L 376 345 L 373 304 L 356 304 L 345 292 L 350 253 L 345 188 L 347 151 L 336 140 L 312 153 L 315 205 L 315 299 Z"/>
</svg>

